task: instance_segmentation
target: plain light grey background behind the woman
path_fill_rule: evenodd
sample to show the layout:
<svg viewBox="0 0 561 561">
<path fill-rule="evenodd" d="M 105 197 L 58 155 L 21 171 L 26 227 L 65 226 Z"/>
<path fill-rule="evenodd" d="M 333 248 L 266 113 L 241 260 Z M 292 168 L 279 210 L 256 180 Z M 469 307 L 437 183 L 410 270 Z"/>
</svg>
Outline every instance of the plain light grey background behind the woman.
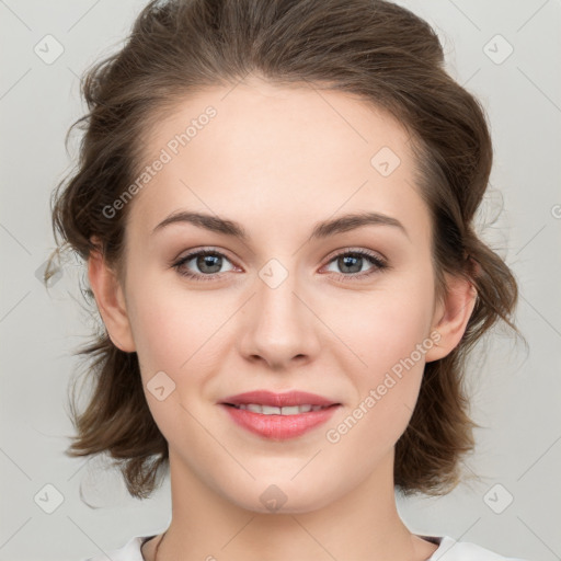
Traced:
<svg viewBox="0 0 561 561">
<path fill-rule="evenodd" d="M 99 460 L 64 456 L 71 353 L 92 323 L 73 299 L 76 264 L 48 293 L 36 278 L 54 249 L 50 193 L 73 165 L 64 138 L 84 110 L 79 76 L 119 46 L 144 3 L 0 0 L 0 561 L 83 559 L 170 522 L 168 481 L 152 499 L 133 500 Z M 561 559 L 561 4 L 399 3 L 435 26 L 450 72 L 489 114 L 495 163 L 481 228 L 520 283 L 517 322 L 528 342 L 526 350 L 499 332 L 471 362 L 482 428 L 466 471 L 482 480 L 440 499 L 400 500 L 399 508 L 413 531 Z M 46 50 L 47 34 L 64 48 L 51 64 L 34 51 Z M 508 47 L 497 34 L 514 48 L 501 64 Z M 70 147 L 75 157 L 77 140 Z M 51 514 L 44 508 L 57 491 L 46 484 L 62 499 Z"/>
</svg>

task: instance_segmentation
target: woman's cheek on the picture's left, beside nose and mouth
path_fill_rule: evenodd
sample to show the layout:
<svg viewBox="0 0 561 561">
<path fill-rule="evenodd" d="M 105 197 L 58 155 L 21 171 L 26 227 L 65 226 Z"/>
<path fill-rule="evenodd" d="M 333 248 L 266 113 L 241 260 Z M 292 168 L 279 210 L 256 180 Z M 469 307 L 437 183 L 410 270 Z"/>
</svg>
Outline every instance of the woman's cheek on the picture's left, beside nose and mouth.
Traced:
<svg viewBox="0 0 561 561">
<path fill-rule="evenodd" d="M 196 295 L 171 285 L 162 275 L 159 279 L 146 275 L 136 283 L 128 299 L 129 318 L 152 417 L 170 444 L 188 448 L 195 446 L 201 431 L 182 405 L 188 404 L 191 411 L 190 399 L 204 385 L 210 368 L 203 365 L 205 353 L 211 348 L 219 318 L 213 319 L 208 311 L 205 316 Z M 163 393 L 157 393 L 159 387 Z"/>
</svg>

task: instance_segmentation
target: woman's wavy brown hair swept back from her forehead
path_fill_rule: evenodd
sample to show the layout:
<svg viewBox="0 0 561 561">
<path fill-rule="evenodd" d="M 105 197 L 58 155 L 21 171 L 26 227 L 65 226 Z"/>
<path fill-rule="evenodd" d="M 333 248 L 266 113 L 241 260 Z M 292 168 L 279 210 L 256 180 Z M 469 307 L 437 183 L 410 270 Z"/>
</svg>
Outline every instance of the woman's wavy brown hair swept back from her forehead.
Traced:
<svg viewBox="0 0 561 561">
<path fill-rule="evenodd" d="M 78 170 L 53 195 L 57 243 L 60 233 L 85 261 L 100 249 L 92 242 L 98 237 L 118 271 L 130 205 L 111 218 L 103 209 L 137 176 L 145 135 L 190 93 L 236 84 L 249 72 L 275 84 L 356 94 L 411 134 L 434 225 L 437 293 L 451 273 L 471 279 L 478 298 L 460 344 L 425 366 L 416 408 L 396 446 L 394 482 L 405 494 L 448 492 L 459 481 L 460 458 L 473 448 L 465 358 L 496 320 L 515 329 L 517 285 L 473 230 L 492 163 L 484 111 L 445 71 L 437 35 L 412 12 L 382 0 L 150 2 L 125 46 L 85 75 L 89 113 L 70 128 L 85 130 Z M 72 396 L 78 436 L 67 454 L 107 453 L 129 493 L 147 497 L 168 463 L 168 443 L 148 409 L 137 355 L 117 348 L 103 328 L 79 354 L 92 359 L 92 393 L 80 413 Z"/>
</svg>

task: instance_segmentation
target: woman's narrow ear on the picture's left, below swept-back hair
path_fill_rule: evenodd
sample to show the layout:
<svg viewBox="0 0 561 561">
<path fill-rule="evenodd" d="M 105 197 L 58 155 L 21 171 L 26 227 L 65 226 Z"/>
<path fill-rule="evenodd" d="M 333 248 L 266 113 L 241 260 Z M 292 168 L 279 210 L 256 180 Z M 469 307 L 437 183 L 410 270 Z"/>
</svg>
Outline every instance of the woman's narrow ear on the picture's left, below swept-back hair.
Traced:
<svg viewBox="0 0 561 561">
<path fill-rule="evenodd" d="M 100 247 L 98 243 L 96 245 Z M 93 250 L 90 253 L 88 277 L 111 341 L 121 351 L 133 353 L 136 347 L 126 311 L 123 288 L 116 273 L 107 266 L 100 250 Z"/>
</svg>

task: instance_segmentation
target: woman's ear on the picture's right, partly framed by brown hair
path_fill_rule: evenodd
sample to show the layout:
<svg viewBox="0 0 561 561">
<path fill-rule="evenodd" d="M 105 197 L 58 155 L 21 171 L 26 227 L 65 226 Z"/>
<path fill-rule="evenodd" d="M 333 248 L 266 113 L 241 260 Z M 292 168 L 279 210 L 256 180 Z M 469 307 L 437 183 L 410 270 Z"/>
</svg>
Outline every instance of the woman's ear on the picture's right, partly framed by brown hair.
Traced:
<svg viewBox="0 0 561 561">
<path fill-rule="evenodd" d="M 443 300 L 435 306 L 431 330 L 438 331 L 440 339 L 426 352 L 427 363 L 438 360 L 456 348 L 466 332 L 476 306 L 477 291 L 468 279 L 460 276 L 448 276 L 446 286 Z"/>
</svg>

